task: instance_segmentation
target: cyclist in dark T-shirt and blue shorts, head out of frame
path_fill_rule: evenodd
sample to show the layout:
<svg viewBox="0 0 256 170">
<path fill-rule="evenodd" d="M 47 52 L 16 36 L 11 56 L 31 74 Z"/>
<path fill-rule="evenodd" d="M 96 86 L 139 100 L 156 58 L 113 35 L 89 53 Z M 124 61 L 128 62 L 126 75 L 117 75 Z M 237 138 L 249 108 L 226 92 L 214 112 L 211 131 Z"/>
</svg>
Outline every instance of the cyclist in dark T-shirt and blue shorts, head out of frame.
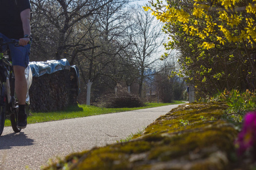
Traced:
<svg viewBox="0 0 256 170">
<path fill-rule="evenodd" d="M 30 44 L 28 44 L 31 40 L 30 11 L 29 0 L 0 0 L 0 37 L 3 37 L 4 41 L 19 40 L 21 45 L 9 45 L 15 75 L 15 92 L 19 102 L 17 128 L 20 129 L 27 126 L 25 112 L 27 82 L 24 70 L 28 66 L 30 54 Z"/>
</svg>

